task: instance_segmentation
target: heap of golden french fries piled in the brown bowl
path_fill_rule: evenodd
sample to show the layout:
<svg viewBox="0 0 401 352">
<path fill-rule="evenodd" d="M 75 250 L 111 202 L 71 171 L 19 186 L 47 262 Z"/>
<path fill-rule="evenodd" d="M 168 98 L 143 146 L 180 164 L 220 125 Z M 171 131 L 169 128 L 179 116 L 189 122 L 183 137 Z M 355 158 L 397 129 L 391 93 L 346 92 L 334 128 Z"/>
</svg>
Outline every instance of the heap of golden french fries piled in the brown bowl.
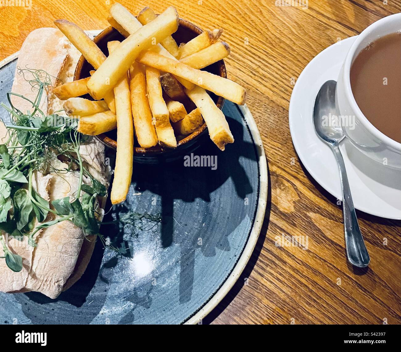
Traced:
<svg viewBox="0 0 401 352">
<path fill-rule="evenodd" d="M 176 136 L 192 133 L 205 121 L 211 140 L 224 150 L 234 138 L 206 90 L 239 105 L 245 103 L 246 92 L 229 79 L 201 71 L 230 53 L 219 40 L 221 29 L 205 31 L 178 46 L 171 36 L 178 28 L 172 6 L 158 16 L 146 7 L 136 18 L 115 3 L 107 20 L 126 38 L 107 43 L 108 57 L 76 24 L 54 22 L 94 70 L 91 77 L 61 84 L 53 93 L 65 100 L 68 115 L 80 117 L 79 132 L 98 135 L 117 128 L 110 195 L 117 204 L 126 199 L 131 182 L 134 133 L 142 148 L 176 148 Z M 94 100 L 81 97 L 87 93 Z"/>
</svg>

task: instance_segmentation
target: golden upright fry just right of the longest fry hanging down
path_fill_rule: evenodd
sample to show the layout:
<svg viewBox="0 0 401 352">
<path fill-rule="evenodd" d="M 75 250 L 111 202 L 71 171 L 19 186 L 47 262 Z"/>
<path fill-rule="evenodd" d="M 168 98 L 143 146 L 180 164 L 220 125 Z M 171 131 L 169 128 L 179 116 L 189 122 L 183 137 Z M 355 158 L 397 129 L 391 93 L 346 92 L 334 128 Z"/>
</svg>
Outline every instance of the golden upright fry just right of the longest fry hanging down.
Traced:
<svg viewBox="0 0 401 352">
<path fill-rule="evenodd" d="M 130 68 L 130 91 L 136 139 L 142 148 L 156 146 L 158 139 L 146 97 L 145 68 L 137 62 Z"/>
</svg>

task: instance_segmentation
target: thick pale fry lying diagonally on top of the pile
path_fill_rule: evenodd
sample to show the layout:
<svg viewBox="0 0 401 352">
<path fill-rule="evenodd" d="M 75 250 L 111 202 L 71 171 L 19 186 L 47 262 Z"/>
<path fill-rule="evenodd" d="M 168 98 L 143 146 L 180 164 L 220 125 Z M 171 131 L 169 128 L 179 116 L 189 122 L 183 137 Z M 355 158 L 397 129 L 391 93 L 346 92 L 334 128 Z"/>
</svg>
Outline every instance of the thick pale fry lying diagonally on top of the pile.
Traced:
<svg viewBox="0 0 401 352">
<path fill-rule="evenodd" d="M 141 51 L 152 42 L 160 42 L 178 28 L 178 14 L 173 6 L 167 8 L 154 21 L 139 28 L 113 51 L 100 65 L 87 83 L 89 94 L 101 99 L 123 77 Z"/>
</svg>

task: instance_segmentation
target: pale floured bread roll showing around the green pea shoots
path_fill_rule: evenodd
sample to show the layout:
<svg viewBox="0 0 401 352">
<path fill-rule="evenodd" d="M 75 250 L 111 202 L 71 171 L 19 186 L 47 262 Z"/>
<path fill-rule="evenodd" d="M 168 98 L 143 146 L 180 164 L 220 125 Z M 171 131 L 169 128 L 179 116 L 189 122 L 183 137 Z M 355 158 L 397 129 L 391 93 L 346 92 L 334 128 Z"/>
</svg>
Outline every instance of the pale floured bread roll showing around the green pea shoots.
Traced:
<svg viewBox="0 0 401 352">
<path fill-rule="evenodd" d="M 39 107 L 46 115 L 63 110 L 63 102 L 52 93 L 52 89 L 73 80 L 79 57 L 80 53 L 59 30 L 34 30 L 20 50 L 12 92 L 34 100 L 37 91 L 32 90 L 29 82 L 18 74 L 18 67 L 42 69 L 50 75 L 52 85 L 47 86 Z M 32 111 L 30 103 L 19 97 L 12 97 L 12 103 L 21 111 Z M 0 135 L 4 143 L 6 128 L 3 123 L 0 123 Z M 104 162 L 103 144 L 93 138 L 80 146 L 80 154 L 91 175 L 108 188 L 110 171 Z M 68 165 L 56 156 L 49 160 L 49 164 L 58 169 L 68 168 Z M 32 185 L 41 197 L 51 202 L 73 195 L 78 182 L 77 172 L 59 175 L 49 168 L 43 172 L 35 171 Z M 90 184 L 90 180 L 85 177 L 83 182 Z M 99 206 L 104 207 L 105 199 L 99 198 L 98 201 Z M 49 213 L 47 221 L 52 220 L 52 217 L 56 218 L 54 214 Z M 0 261 L 0 291 L 10 293 L 37 291 L 50 298 L 57 298 L 63 289 L 71 287 L 81 277 L 95 246 L 95 236 L 85 239 L 82 229 L 69 221 L 38 231 L 34 237 L 36 247 L 28 245 L 26 236 L 22 241 L 18 241 L 4 232 L 2 234 L 8 249 L 23 258 L 23 269 L 18 273 L 11 271 L 4 260 Z M 0 256 L 2 255 L 1 248 Z"/>
</svg>

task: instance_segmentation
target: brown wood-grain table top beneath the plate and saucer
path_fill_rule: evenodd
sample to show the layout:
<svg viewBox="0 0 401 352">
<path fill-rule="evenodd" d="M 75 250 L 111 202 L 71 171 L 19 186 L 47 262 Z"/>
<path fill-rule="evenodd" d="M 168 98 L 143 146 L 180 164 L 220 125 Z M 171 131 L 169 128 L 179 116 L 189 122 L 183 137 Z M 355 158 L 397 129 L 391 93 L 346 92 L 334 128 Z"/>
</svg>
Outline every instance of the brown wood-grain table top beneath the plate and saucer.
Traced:
<svg viewBox="0 0 401 352">
<path fill-rule="evenodd" d="M 0 60 L 19 50 L 31 30 L 53 26 L 53 19 L 85 29 L 108 25 L 108 0 L 32 2 L 31 10 L 0 7 Z M 134 13 L 174 5 L 202 28 L 224 28 L 229 78 L 247 88 L 265 146 L 269 205 L 259 242 L 237 284 L 203 323 L 400 324 L 401 222 L 358 212 L 372 263 L 366 271 L 352 269 L 342 210 L 303 168 L 288 127 L 291 92 L 306 64 L 338 40 L 400 12 L 399 1 L 314 0 L 307 9 L 275 6 L 274 0 L 121 3 Z M 309 249 L 275 247 L 282 234 L 307 235 Z"/>
</svg>

